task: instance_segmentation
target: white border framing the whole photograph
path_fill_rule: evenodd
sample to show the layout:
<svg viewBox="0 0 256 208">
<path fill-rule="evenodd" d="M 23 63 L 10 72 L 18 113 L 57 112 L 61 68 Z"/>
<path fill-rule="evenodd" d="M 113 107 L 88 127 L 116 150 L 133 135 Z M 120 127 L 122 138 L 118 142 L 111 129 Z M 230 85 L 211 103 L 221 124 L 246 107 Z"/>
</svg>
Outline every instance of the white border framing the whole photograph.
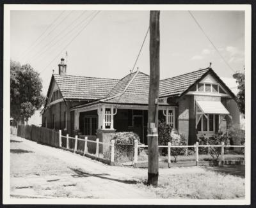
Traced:
<svg viewBox="0 0 256 208">
<path fill-rule="evenodd" d="M 244 11 L 245 13 L 245 198 L 241 200 L 191 199 L 80 199 L 10 198 L 10 11 L 13 10 L 196 10 Z M 251 37 L 252 8 L 249 4 L 4 4 L 3 71 L 3 204 L 159 204 L 159 205 L 248 205 L 251 182 Z"/>
</svg>

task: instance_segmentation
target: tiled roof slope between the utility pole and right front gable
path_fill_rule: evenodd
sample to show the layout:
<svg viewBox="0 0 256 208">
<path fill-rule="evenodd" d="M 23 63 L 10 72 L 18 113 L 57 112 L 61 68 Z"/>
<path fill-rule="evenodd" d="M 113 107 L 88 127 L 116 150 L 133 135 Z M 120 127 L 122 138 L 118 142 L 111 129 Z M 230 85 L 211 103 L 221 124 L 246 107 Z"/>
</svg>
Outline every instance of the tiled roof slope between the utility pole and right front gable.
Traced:
<svg viewBox="0 0 256 208">
<path fill-rule="evenodd" d="M 184 93 L 188 87 L 201 78 L 207 71 L 209 71 L 209 68 L 160 80 L 159 97 L 172 96 L 174 94 L 179 96 L 180 94 Z"/>
</svg>

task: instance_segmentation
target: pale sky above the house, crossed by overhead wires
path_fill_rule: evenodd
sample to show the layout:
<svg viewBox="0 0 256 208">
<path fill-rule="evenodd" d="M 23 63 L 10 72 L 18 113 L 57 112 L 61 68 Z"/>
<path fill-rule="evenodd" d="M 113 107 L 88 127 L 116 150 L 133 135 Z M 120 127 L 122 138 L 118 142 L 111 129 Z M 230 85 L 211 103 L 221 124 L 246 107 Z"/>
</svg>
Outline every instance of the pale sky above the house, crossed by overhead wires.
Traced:
<svg viewBox="0 0 256 208">
<path fill-rule="evenodd" d="M 67 74 L 122 78 L 134 65 L 149 11 L 11 11 L 11 59 L 40 73 L 47 93 L 61 57 Z M 191 11 L 234 71 L 244 68 L 244 11 Z M 95 16 L 96 15 L 96 16 Z M 95 16 L 95 17 L 94 17 Z M 92 19 L 92 17 L 94 17 Z M 149 75 L 149 34 L 135 70 Z M 225 80 L 234 72 L 188 11 L 160 13 L 160 78 L 207 68 Z"/>
</svg>

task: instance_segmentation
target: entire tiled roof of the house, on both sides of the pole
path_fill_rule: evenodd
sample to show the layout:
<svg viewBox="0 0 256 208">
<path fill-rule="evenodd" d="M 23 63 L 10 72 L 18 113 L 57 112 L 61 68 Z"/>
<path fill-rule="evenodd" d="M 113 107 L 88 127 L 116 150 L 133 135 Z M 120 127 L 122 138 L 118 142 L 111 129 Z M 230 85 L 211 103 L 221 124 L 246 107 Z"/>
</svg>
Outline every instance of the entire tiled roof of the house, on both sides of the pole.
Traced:
<svg viewBox="0 0 256 208">
<path fill-rule="evenodd" d="M 160 80 L 159 97 L 180 96 L 209 71 L 197 70 L 177 77 Z M 141 71 L 131 73 L 121 80 L 110 78 L 54 75 L 65 99 L 99 100 L 109 103 L 147 104 L 149 76 Z"/>
</svg>

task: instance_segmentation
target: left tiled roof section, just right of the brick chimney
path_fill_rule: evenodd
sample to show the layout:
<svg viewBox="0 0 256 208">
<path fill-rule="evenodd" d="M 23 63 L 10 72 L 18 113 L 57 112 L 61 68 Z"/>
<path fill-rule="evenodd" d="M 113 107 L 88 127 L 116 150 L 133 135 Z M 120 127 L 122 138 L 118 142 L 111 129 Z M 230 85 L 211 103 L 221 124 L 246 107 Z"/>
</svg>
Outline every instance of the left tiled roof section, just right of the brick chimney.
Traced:
<svg viewBox="0 0 256 208">
<path fill-rule="evenodd" d="M 98 100 L 108 95 L 119 80 L 54 74 L 64 99 Z"/>
</svg>

